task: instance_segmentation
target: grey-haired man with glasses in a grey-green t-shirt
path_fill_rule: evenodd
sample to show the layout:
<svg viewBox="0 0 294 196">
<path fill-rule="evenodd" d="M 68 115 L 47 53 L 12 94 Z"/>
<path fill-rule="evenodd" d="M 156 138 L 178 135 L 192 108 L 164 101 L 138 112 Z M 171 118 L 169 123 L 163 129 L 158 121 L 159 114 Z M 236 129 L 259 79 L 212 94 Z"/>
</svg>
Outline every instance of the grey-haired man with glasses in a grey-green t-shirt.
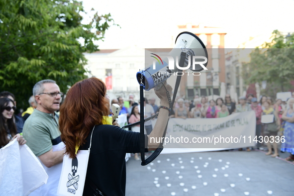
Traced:
<svg viewBox="0 0 294 196">
<path fill-rule="evenodd" d="M 24 123 L 23 137 L 41 161 L 49 178 L 47 184 L 32 192 L 30 196 L 56 196 L 64 144 L 60 138 L 58 116 L 55 111 L 59 110 L 63 94 L 60 93 L 55 81 L 42 80 L 35 84 L 33 96 L 37 107 Z"/>
</svg>

